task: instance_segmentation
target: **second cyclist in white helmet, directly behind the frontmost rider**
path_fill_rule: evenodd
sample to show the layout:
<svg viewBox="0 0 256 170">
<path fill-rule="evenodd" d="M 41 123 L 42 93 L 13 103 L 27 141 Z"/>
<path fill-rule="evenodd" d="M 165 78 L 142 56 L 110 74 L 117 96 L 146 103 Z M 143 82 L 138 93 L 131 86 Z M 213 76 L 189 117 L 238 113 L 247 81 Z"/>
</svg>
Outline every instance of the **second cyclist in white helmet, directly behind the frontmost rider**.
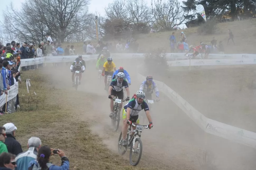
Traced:
<svg viewBox="0 0 256 170">
<path fill-rule="evenodd" d="M 124 80 L 125 78 L 125 74 L 123 72 L 119 72 L 117 74 L 117 78 L 116 79 L 113 79 L 111 81 L 111 84 L 109 86 L 109 89 L 108 89 L 108 98 L 109 99 L 112 99 L 114 98 L 116 95 L 118 97 L 118 99 L 124 99 L 124 92 L 123 92 L 123 87 L 125 87 L 125 90 L 127 91 L 127 98 L 126 98 L 126 101 L 129 101 L 130 100 L 130 91 L 129 91 L 129 86 L 128 86 L 128 82 L 126 80 Z M 122 108 L 122 104 L 123 102 L 121 102 L 120 104 L 120 108 Z M 114 107 L 114 101 L 113 100 L 110 100 L 110 114 L 109 116 L 112 118 L 112 110 L 113 110 L 113 107 Z"/>
</svg>

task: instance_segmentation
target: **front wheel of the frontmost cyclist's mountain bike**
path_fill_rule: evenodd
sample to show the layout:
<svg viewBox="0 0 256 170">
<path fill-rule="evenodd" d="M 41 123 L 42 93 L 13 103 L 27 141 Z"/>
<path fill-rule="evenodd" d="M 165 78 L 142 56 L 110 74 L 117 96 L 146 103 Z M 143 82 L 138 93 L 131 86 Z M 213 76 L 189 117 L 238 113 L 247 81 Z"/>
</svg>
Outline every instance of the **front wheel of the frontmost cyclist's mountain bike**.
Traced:
<svg viewBox="0 0 256 170">
<path fill-rule="evenodd" d="M 138 144 L 136 145 L 136 142 L 138 142 Z M 134 156 L 138 156 L 138 158 L 135 158 L 133 160 L 133 155 Z M 141 155 L 142 155 L 142 141 L 140 138 L 136 138 L 135 139 L 135 144 L 134 144 L 134 148 L 133 148 L 133 145 L 131 146 L 130 148 L 130 164 L 132 166 L 136 166 L 138 165 L 138 163 L 140 162 L 140 158 L 141 158 Z"/>
</svg>

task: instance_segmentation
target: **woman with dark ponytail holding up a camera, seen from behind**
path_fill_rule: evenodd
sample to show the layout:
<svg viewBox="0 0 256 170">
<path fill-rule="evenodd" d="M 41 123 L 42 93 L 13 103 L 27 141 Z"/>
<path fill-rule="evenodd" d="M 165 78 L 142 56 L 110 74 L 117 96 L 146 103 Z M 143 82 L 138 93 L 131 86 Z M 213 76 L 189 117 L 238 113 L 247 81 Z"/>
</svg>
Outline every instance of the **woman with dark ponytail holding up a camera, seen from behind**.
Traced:
<svg viewBox="0 0 256 170">
<path fill-rule="evenodd" d="M 30 167 L 28 170 L 69 170 L 69 160 L 65 153 L 60 149 L 57 151 L 57 154 L 59 154 L 61 157 L 61 166 L 56 166 L 49 163 L 50 157 L 53 154 L 51 151 L 53 150 L 54 149 L 51 149 L 48 146 L 40 147 L 36 160 L 29 163 Z"/>
</svg>

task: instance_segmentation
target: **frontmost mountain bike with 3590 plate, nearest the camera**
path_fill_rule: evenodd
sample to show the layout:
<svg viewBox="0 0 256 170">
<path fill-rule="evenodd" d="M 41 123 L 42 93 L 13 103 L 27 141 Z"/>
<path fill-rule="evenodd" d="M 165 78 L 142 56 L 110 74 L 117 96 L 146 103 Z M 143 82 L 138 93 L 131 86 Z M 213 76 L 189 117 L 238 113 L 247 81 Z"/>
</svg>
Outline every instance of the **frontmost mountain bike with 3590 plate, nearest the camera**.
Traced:
<svg viewBox="0 0 256 170">
<path fill-rule="evenodd" d="M 132 126 L 136 127 L 136 129 L 131 130 Z M 121 155 L 124 155 L 127 148 L 130 148 L 129 159 L 130 159 L 130 164 L 133 166 L 138 165 L 138 163 L 140 162 L 141 155 L 142 155 L 142 141 L 141 141 L 140 137 L 141 137 L 141 132 L 143 129 L 148 129 L 148 125 L 140 125 L 137 123 L 132 123 L 129 126 L 128 132 L 127 132 L 127 137 L 126 137 L 127 146 L 122 145 L 122 132 L 120 133 L 120 136 L 118 139 L 118 152 Z M 132 132 L 135 132 L 135 133 L 131 137 Z M 135 145 L 136 142 L 138 142 L 137 145 Z M 139 156 L 138 159 L 133 160 L 132 159 L 133 154 L 138 155 Z"/>
</svg>

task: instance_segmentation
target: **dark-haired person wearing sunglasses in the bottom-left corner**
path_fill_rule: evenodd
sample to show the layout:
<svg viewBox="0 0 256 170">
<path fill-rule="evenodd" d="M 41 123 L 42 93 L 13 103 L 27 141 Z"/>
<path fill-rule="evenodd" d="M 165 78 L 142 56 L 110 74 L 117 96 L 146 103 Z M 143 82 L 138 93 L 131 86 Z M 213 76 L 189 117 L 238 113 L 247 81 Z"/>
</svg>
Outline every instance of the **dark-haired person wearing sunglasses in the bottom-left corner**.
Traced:
<svg viewBox="0 0 256 170">
<path fill-rule="evenodd" d="M 17 167 L 15 157 L 14 154 L 3 152 L 0 155 L 0 170 L 14 170 Z"/>
</svg>

